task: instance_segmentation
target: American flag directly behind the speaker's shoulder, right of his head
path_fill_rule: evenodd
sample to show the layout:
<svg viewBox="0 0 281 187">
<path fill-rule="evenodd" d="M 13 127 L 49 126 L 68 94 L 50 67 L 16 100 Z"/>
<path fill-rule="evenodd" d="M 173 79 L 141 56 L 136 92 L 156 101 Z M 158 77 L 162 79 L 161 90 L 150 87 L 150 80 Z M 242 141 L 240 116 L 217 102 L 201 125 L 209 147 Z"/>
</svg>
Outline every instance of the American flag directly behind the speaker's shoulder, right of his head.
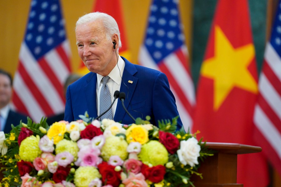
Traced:
<svg viewBox="0 0 281 187">
<path fill-rule="evenodd" d="M 192 125 L 195 91 L 179 15 L 178 1 L 152 2 L 139 63 L 167 75 L 181 121 L 187 131 Z"/>
</svg>

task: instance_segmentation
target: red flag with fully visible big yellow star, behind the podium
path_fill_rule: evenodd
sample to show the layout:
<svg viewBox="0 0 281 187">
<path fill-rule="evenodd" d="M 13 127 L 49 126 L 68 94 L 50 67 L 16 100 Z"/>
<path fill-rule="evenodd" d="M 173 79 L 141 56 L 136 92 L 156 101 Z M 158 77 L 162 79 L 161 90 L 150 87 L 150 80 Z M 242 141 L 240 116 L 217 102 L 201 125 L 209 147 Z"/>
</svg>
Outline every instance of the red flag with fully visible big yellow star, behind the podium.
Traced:
<svg viewBox="0 0 281 187">
<path fill-rule="evenodd" d="M 197 88 L 193 132 L 208 142 L 259 146 L 253 141 L 258 94 L 255 50 L 246 0 L 219 0 Z M 203 174 L 204 175 L 204 174 Z M 237 183 L 267 186 L 262 153 L 238 155 Z"/>
</svg>

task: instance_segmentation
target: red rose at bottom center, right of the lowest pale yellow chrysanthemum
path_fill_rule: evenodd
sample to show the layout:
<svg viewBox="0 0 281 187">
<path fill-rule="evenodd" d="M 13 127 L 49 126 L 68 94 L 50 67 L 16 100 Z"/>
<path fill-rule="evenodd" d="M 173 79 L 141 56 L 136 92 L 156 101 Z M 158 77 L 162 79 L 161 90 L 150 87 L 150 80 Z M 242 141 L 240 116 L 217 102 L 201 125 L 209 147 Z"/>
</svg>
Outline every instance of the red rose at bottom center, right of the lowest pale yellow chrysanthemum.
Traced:
<svg viewBox="0 0 281 187">
<path fill-rule="evenodd" d="M 102 177 L 102 182 L 105 183 L 106 181 L 105 185 L 112 185 L 113 187 L 119 186 L 121 182 L 121 171 L 115 171 L 115 166 L 108 165 L 106 162 L 102 162 L 101 164 L 99 164 L 98 168 Z"/>
</svg>

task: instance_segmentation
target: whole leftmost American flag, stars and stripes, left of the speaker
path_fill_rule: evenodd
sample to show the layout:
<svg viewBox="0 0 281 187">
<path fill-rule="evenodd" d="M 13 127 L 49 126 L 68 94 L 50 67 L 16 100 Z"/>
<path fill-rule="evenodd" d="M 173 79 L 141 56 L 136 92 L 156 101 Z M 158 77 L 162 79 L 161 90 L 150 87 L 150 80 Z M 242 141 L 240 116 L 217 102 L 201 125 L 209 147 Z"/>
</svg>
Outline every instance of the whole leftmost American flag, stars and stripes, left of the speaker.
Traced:
<svg viewBox="0 0 281 187">
<path fill-rule="evenodd" d="M 14 76 L 13 105 L 38 122 L 65 107 L 70 48 L 59 0 L 32 0 Z"/>
</svg>

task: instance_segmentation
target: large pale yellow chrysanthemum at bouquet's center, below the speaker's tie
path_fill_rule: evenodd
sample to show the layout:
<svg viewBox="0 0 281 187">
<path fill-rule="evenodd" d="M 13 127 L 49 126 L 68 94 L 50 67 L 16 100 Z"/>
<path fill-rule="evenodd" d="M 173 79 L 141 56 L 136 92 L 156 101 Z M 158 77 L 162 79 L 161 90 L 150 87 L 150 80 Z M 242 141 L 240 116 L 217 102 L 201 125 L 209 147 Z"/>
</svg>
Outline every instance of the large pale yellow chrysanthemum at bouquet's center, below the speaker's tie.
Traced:
<svg viewBox="0 0 281 187">
<path fill-rule="evenodd" d="M 128 143 L 123 137 L 110 136 L 106 138 L 106 142 L 101 149 L 101 157 L 104 161 L 108 161 L 111 156 L 117 155 L 122 160 L 128 157 Z"/>
</svg>

